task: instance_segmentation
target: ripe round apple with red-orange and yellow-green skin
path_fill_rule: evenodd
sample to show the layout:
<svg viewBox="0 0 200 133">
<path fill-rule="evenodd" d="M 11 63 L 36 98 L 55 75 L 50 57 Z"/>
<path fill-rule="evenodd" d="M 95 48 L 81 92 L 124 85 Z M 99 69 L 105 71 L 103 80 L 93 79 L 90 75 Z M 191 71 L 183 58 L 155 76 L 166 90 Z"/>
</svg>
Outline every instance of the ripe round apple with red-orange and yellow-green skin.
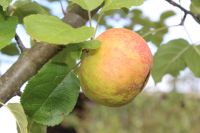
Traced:
<svg viewBox="0 0 200 133">
<path fill-rule="evenodd" d="M 85 95 L 102 105 L 129 103 L 144 88 L 152 66 L 152 54 L 137 33 L 113 28 L 97 40 L 100 48 L 82 59 L 79 78 Z"/>
</svg>

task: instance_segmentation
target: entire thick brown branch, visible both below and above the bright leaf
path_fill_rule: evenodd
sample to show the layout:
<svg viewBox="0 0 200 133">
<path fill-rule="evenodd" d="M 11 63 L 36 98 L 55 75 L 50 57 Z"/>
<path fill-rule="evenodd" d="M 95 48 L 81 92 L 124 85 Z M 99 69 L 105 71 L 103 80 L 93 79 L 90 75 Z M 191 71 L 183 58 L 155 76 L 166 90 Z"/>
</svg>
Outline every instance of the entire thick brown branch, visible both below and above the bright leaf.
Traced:
<svg viewBox="0 0 200 133">
<path fill-rule="evenodd" d="M 96 11 L 93 12 L 93 14 Z M 63 21 L 73 27 L 80 27 L 88 20 L 87 11 L 74 5 L 70 8 Z M 38 43 L 26 50 L 19 59 L 0 77 L 0 101 L 5 103 L 13 96 L 17 95 L 21 86 L 34 76 L 38 70 L 54 55 L 62 46 Z"/>
</svg>

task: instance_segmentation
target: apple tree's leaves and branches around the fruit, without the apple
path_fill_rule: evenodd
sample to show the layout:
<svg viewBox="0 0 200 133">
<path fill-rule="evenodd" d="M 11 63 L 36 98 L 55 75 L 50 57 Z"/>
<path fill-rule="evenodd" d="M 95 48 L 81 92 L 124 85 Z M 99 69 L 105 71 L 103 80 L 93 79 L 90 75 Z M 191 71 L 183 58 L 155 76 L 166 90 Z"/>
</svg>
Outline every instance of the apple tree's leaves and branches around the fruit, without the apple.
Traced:
<svg viewBox="0 0 200 133">
<path fill-rule="evenodd" d="M 116 14 L 120 19 L 131 20 L 124 28 L 132 30 L 139 24 L 141 28 L 135 32 L 157 47 L 151 69 L 156 83 L 166 74 L 178 76 L 184 68 L 200 76 L 200 45 L 183 38 L 162 43 L 169 28 L 184 26 L 188 16 L 200 24 L 198 0 L 191 1 L 189 10 L 165 0 L 183 12 L 182 19 L 170 27 L 165 20 L 175 13 L 163 12 L 158 21 L 153 21 L 134 8 L 144 0 L 68 0 L 67 7 L 60 0 L 48 1 L 61 3 L 62 19 L 54 16 L 48 5 L 34 0 L 0 0 L 1 53 L 19 56 L 0 77 L 0 102 L 15 115 L 21 133 L 45 133 L 47 126 L 60 124 L 73 111 L 80 94 L 77 75 L 81 60 L 89 51 L 101 47 L 95 39 L 96 32 L 100 27 L 113 28 L 106 18 Z M 18 25 L 30 36 L 30 48 L 16 33 Z M 20 103 L 5 104 L 16 95 L 21 97 Z"/>
</svg>

